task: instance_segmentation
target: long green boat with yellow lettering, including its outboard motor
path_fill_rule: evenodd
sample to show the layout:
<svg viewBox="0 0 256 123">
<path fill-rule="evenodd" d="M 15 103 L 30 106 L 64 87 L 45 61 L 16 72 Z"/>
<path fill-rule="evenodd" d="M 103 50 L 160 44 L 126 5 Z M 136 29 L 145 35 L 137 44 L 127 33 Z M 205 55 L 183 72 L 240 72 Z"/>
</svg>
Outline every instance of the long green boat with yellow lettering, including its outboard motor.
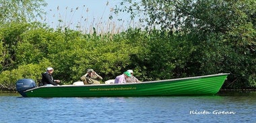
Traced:
<svg viewBox="0 0 256 123">
<path fill-rule="evenodd" d="M 159 80 L 127 84 L 91 84 L 37 87 L 34 80 L 16 82 L 24 97 L 130 97 L 130 96 L 199 96 L 217 94 L 228 74 Z"/>
</svg>

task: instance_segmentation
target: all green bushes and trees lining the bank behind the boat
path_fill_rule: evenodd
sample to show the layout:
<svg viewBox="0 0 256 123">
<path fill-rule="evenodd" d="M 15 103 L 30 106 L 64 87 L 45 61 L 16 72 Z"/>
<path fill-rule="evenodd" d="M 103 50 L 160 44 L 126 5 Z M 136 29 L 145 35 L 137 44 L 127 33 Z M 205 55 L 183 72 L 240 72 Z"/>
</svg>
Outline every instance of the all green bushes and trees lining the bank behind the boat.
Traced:
<svg viewBox="0 0 256 123">
<path fill-rule="evenodd" d="M 45 4 L 38 3 L 37 8 Z M 82 33 L 30 21 L 33 12 L 22 20 L 0 17 L 1 90 L 15 90 L 15 82 L 21 78 L 38 82 L 49 66 L 63 84 L 78 81 L 86 69 L 93 68 L 104 81 L 132 69 L 142 81 L 230 73 L 222 88 L 256 87 L 255 1 L 121 4 L 126 7 L 116 12 L 127 11 L 131 17 L 145 14 L 139 19 L 145 28 Z M 6 11 L 0 11 L 7 15 L 3 13 Z"/>
</svg>

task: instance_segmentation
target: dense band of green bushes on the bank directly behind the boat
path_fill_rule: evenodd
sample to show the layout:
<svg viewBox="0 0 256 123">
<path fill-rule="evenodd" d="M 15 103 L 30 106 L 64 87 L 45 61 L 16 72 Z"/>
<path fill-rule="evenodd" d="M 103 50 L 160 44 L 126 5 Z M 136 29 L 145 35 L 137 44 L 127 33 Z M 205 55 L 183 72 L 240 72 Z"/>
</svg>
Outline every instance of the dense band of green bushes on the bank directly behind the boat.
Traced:
<svg viewBox="0 0 256 123">
<path fill-rule="evenodd" d="M 193 35 L 159 30 L 93 35 L 34 23 L 10 23 L 0 32 L 0 84 L 9 90 L 14 90 L 21 78 L 38 82 L 49 66 L 55 68 L 53 76 L 63 84 L 79 81 L 86 69 L 93 68 L 104 81 L 128 69 L 141 81 L 225 72 L 231 75 L 224 88 L 255 86 L 255 54 L 241 54 L 228 42 L 219 41 L 219 35 L 194 43 Z"/>
</svg>

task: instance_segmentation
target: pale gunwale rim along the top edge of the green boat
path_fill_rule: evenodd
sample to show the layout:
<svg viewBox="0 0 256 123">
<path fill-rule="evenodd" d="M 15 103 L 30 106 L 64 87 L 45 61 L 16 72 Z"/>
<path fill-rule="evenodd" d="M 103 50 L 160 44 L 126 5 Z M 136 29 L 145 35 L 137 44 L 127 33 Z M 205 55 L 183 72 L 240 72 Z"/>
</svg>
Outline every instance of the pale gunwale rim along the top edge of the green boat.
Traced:
<svg viewBox="0 0 256 123">
<path fill-rule="evenodd" d="M 207 77 L 213 77 L 213 76 L 224 76 L 228 75 L 225 73 L 220 74 L 212 74 L 212 75 L 206 75 L 206 76 L 195 76 L 195 77 L 188 77 L 188 78 L 176 78 L 176 79 L 168 79 L 168 80 L 155 80 L 155 81 L 148 81 L 148 82 L 137 82 L 137 83 L 126 83 L 126 84 L 90 84 L 90 85 L 62 85 L 62 86 L 40 86 L 36 88 L 31 88 L 29 90 L 25 90 L 24 92 L 29 92 L 32 90 L 37 90 L 39 88 L 66 88 L 66 87 L 97 87 L 97 86 L 125 86 L 125 85 L 132 85 L 132 84 L 151 84 L 151 83 L 158 83 L 158 82 L 172 82 L 177 80 L 191 80 L 191 79 L 198 79 L 198 78 L 207 78 Z"/>
</svg>

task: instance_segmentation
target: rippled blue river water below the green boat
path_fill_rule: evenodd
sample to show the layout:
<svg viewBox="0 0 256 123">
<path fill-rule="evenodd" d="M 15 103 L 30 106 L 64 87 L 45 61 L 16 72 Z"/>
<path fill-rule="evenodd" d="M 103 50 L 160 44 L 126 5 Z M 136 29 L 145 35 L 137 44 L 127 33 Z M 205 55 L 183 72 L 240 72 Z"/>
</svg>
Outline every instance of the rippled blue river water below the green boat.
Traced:
<svg viewBox="0 0 256 123">
<path fill-rule="evenodd" d="M 255 122 L 255 100 L 256 92 L 131 98 L 0 94 L 0 122 Z"/>
</svg>

